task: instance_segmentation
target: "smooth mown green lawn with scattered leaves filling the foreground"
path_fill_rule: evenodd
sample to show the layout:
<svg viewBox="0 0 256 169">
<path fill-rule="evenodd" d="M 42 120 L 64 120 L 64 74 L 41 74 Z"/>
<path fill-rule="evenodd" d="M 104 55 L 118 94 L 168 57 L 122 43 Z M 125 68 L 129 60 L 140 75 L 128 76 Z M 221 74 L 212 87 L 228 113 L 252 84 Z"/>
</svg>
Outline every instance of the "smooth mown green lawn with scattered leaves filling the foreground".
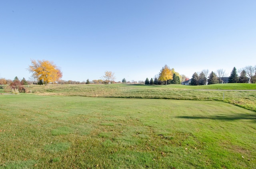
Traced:
<svg viewBox="0 0 256 169">
<path fill-rule="evenodd" d="M 0 168 L 256 166 L 256 113 L 226 102 L 16 94 L 0 114 Z"/>
</svg>

